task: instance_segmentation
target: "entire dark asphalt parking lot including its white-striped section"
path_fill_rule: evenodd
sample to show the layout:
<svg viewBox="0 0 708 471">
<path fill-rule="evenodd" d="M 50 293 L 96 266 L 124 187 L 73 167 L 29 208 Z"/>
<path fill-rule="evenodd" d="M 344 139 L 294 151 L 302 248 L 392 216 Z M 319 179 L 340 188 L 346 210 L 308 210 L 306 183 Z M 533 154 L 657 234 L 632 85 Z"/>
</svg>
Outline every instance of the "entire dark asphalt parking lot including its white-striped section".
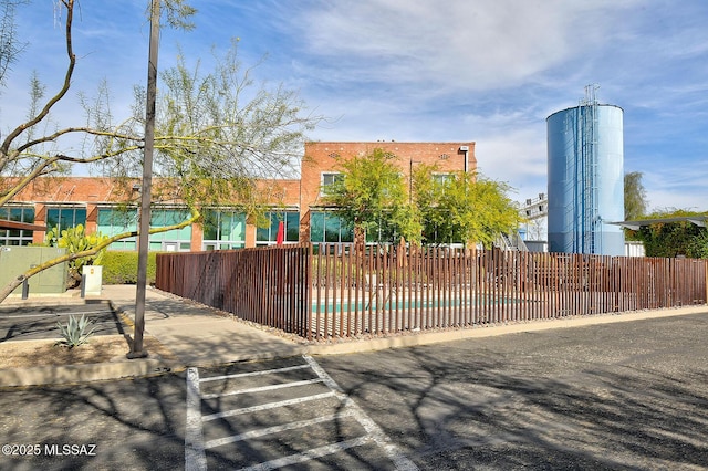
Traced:
<svg viewBox="0 0 708 471">
<path fill-rule="evenodd" d="M 706 338 L 708 312 L 8 388 L 0 469 L 706 470 Z"/>
</svg>

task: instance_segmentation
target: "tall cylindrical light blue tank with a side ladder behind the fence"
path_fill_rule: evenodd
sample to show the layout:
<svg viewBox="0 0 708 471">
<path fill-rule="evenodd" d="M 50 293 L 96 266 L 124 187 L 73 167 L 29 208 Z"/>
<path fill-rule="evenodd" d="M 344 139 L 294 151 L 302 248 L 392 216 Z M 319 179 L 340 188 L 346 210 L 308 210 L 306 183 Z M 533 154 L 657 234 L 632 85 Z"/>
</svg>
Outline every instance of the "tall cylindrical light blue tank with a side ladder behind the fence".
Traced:
<svg viewBox="0 0 708 471">
<path fill-rule="evenodd" d="M 549 251 L 624 255 L 623 114 L 593 97 L 546 118 Z"/>
</svg>

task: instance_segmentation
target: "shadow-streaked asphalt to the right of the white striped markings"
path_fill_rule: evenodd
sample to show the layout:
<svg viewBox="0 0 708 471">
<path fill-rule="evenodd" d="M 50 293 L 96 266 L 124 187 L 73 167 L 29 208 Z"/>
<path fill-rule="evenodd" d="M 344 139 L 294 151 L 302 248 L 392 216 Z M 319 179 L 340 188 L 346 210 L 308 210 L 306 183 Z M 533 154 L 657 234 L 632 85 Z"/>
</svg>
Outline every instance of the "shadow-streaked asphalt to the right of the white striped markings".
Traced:
<svg viewBox="0 0 708 471">
<path fill-rule="evenodd" d="M 707 470 L 708 315 L 319 357 L 419 469 Z"/>
</svg>

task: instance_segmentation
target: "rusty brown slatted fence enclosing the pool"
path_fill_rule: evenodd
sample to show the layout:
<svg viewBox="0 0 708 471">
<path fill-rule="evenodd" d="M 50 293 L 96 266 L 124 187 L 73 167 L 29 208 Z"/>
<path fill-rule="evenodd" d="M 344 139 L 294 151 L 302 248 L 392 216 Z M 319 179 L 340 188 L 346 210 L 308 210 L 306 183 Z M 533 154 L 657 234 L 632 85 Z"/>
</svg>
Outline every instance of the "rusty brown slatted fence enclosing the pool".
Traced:
<svg viewBox="0 0 708 471">
<path fill-rule="evenodd" d="M 309 339 L 705 304 L 707 261 L 284 245 L 158 255 L 157 287 Z"/>
</svg>

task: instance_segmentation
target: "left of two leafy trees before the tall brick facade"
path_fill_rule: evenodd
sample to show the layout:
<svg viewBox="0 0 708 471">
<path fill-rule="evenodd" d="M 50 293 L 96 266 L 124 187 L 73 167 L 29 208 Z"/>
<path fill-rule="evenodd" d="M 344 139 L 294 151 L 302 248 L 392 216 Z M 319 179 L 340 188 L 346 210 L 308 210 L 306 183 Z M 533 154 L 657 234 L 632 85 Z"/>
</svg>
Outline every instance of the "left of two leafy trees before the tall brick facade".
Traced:
<svg viewBox="0 0 708 471">
<path fill-rule="evenodd" d="M 322 189 L 324 203 L 354 227 L 360 247 L 367 232 L 379 229 L 392 229 L 409 242 L 420 240 L 420 224 L 408 205 L 397 161 L 398 157 L 378 148 L 365 156 L 340 158 L 341 178 Z"/>
</svg>

